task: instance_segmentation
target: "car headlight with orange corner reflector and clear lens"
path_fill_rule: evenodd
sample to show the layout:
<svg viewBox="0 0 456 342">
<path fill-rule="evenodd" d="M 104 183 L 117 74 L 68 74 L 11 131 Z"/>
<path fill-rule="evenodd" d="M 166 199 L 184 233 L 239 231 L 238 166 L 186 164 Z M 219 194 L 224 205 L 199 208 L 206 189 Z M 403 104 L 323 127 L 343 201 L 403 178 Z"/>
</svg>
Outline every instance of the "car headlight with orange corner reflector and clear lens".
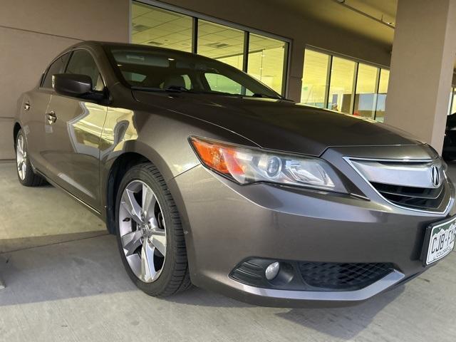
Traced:
<svg viewBox="0 0 456 342">
<path fill-rule="evenodd" d="M 241 185 L 271 182 L 346 192 L 328 163 L 316 157 L 286 155 L 190 137 L 201 162 Z"/>
</svg>

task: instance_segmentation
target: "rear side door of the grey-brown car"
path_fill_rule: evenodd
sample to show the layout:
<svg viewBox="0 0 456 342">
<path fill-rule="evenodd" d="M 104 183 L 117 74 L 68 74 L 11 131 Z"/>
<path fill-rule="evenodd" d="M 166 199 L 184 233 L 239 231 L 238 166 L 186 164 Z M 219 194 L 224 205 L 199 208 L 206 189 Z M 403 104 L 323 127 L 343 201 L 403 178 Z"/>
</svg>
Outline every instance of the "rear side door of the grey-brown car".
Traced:
<svg viewBox="0 0 456 342">
<path fill-rule="evenodd" d="M 33 166 L 43 173 L 47 173 L 46 162 L 43 158 L 43 150 L 46 143 L 46 109 L 53 94 L 52 76 L 56 73 L 63 73 L 66 68 L 70 54 L 56 58 L 53 61 L 41 80 L 38 88 L 24 95 L 23 111 L 21 115 L 22 125 L 27 140 L 28 157 Z"/>
</svg>

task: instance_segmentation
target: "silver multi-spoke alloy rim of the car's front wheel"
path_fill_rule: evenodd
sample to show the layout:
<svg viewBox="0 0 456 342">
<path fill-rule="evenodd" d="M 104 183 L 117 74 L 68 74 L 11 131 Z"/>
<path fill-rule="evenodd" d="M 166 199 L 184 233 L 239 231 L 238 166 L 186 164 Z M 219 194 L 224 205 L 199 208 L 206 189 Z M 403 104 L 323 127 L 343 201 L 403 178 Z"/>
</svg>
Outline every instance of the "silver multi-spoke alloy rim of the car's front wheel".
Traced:
<svg viewBox="0 0 456 342">
<path fill-rule="evenodd" d="M 133 180 L 123 190 L 118 213 L 120 241 L 130 269 L 141 281 L 160 276 L 166 256 L 166 227 L 152 189 Z"/>
</svg>

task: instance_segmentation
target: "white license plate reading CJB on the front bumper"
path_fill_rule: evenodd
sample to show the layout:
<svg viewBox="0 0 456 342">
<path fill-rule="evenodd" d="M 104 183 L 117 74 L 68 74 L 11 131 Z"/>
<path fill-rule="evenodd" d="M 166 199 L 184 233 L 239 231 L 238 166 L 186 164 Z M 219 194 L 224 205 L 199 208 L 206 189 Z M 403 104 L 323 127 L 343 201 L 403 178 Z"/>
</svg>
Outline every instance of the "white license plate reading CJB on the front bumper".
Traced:
<svg viewBox="0 0 456 342">
<path fill-rule="evenodd" d="M 456 217 L 442 222 L 430 224 L 426 230 L 423 249 L 423 264 L 425 266 L 442 259 L 455 248 Z"/>
</svg>

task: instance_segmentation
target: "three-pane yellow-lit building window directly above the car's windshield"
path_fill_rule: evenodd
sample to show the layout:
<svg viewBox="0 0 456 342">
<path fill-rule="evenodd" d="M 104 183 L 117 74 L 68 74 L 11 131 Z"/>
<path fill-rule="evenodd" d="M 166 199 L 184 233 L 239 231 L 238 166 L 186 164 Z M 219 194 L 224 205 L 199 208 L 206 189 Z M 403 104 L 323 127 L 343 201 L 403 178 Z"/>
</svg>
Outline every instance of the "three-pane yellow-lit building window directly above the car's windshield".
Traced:
<svg viewBox="0 0 456 342">
<path fill-rule="evenodd" d="M 288 43 L 249 33 L 248 56 L 245 56 L 247 31 L 197 19 L 194 32 L 194 22 L 192 16 L 132 1 L 131 41 L 186 52 L 195 52 L 195 47 L 197 53 L 239 70 L 246 70 L 244 61 L 247 61 L 250 75 L 282 93 Z M 197 34 L 197 46 L 194 46 L 193 33 Z"/>
</svg>

